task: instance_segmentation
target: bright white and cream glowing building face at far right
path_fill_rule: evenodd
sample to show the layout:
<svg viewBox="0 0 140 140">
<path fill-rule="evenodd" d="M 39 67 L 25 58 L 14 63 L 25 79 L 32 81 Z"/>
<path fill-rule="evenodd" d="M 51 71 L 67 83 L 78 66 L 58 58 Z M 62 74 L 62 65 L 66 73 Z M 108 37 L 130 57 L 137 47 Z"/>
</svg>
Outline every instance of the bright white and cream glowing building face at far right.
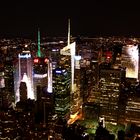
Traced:
<svg viewBox="0 0 140 140">
<path fill-rule="evenodd" d="M 127 78 L 138 78 L 138 45 L 126 45 L 122 49 L 122 66 L 126 68 Z"/>
</svg>

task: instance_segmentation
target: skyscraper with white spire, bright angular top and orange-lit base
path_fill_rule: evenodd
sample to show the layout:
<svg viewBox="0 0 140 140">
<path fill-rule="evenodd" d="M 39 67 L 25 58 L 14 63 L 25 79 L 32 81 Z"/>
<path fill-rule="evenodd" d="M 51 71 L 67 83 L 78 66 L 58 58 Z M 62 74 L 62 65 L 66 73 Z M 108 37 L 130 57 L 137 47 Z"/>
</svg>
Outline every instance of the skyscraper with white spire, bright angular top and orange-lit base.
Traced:
<svg viewBox="0 0 140 140">
<path fill-rule="evenodd" d="M 76 119 L 78 119 L 78 114 L 80 111 L 80 93 L 78 93 L 77 85 L 74 81 L 75 75 L 75 52 L 76 52 L 76 42 L 70 43 L 70 20 L 68 21 L 68 41 L 67 46 L 60 50 L 61 55 L 70 56 L 71 62 L 71 92 L 70 92 L 70 120 L 68 123 L 73 123 Z M 78 63 L 78 58 L 77 58 Z M 77 64 L 79 67 L 79 65 Z M 77 92 L 78 91 L 78 92 Z"/>
</svg>

